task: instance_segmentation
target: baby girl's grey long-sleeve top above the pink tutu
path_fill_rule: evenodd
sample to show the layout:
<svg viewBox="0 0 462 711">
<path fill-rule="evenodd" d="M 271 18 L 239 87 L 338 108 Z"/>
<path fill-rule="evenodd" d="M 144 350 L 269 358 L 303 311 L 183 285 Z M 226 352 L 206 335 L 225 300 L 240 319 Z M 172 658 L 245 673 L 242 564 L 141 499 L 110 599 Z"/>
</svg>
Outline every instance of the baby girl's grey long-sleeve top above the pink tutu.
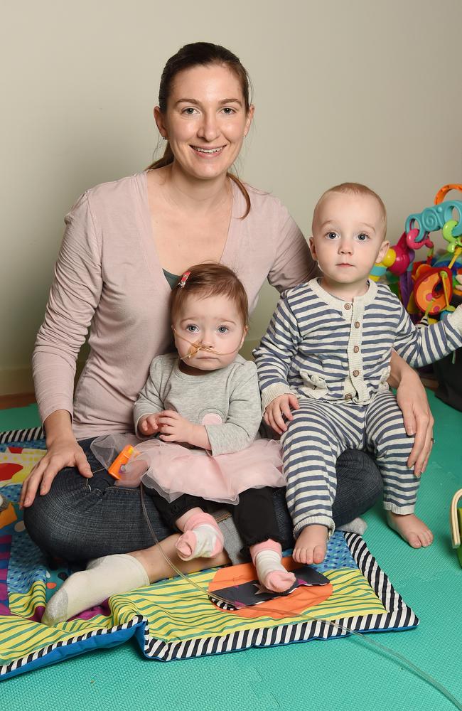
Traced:
<svg viewBox="0 0 462 711">
<path fill-rule="evenodd" d="M 214 456 L 245 449 L 262 422 L 257 368 L 237 355 L 226 368 L 187 375 L 178 368 L 177 353 L 159 355 L 134 405 L 135 432 L 141 417 L 162 410 L 203 424 Z M 216 424 L 208 424 L 213 419 Z"/>
</svg>

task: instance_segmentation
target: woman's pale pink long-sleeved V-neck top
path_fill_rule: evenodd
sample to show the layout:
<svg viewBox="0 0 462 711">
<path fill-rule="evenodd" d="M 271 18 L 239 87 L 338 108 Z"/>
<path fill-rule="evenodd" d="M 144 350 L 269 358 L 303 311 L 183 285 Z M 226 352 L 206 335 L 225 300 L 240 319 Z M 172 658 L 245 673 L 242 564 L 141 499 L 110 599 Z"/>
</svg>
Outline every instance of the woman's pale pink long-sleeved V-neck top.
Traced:
<svg viewBox="0 0 462 711">
<path fill-rule="evenodd" d="M 279 292 L 315 273 L 306 241 L 277 198 L 233 183 L 222 263 L 257 304 L 265 279 Z M 65 218 L 55 278 L 33 353 L 42 420 L 68 410 L 77 438 L 133 428 L 132 410 L 154 355 L 172 350 L 170 287 L 151 232 L 146 173 L 84 193 Z M 75 390 L 75 361 L 90 327 L 90 355 Z"/>
</svg>

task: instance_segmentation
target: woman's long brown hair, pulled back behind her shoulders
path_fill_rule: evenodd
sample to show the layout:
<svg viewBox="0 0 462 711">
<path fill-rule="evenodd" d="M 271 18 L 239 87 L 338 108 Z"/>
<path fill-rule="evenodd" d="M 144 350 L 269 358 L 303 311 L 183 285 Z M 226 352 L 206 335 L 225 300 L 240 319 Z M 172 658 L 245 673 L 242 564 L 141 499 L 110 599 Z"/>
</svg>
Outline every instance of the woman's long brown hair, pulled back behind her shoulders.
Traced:
<svg viewBox="0 0 462 711">
<path fill-rule="evenodd" d="M 168 97 L 170 96 L 171 86 L 176 75 L 186 69 L 197 67 L 198 65 L 208 66 L 210 64 L 224 65 L 235 74 L 241 85 L 245 112 L 246 114 L 249 112 L 250 78 L 247 70 L 241 64 L 240 59 L 230 52 L 230 50 L 220 45 L 215 45 L 210 42 L 194 42 L 178 50 L 178 52 L 167 61 L 163 68 L 161 83 L 159 85 L 159 108 L 163 114 L 166 113 Z M 171 163 L 173 163 L 173 151 L 171 146 L 167 143 L 163 156 L 158 161 L 151 163 L 146 170 L 163 168 Z M 235 173 L 228 171 L 226 174 L 230 180 L 236 183 L 245 198 L 246 210 L 242 218 L 246 218 L 250 211 L 250 196 L 247 192 L 247 188 Z"/>
</svg>

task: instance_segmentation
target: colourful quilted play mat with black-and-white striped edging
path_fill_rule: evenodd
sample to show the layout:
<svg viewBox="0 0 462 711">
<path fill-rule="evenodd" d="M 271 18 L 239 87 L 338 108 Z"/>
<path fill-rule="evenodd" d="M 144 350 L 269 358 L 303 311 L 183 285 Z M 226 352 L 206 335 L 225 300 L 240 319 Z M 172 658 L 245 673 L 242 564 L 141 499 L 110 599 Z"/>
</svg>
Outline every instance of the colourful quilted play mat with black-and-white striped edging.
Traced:
<svg viewBox="0 0 462 711">
<path fill-rule="evenodd" d="M 114 595 L 56 627 L 45 626 L 46 602 L 77 569 L 43 555 L 28 537 L 18 508 L 21 483 L 45 453 L 42 438 L 40 428 L 0 434 L 0 493 L 8 502 L 0 512 L 0 679 L 132 636 L 146 657 L 171 661 L 349 634 L 331 621 L 358 632 L 419 624 L 361 536 L 336 532 L 326 560 L 314 566 L 328 579 L 322 587 L 300 587 L 245 609 L 215 604 L 214 591 L 254 579 L 252 565 L 246 564 L 191 575 L 209 594 L 173 577 Z"/>
</svg>

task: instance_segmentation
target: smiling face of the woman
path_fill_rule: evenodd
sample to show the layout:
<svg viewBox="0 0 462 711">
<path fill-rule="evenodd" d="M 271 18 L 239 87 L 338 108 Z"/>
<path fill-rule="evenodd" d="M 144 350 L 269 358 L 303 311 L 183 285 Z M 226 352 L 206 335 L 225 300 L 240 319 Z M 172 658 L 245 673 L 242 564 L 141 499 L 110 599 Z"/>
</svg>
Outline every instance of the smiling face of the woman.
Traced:
<svg viewBox="0 0 462 711">
<path fill-rule="evenodd" d="M 178 167 L 202 180 L 223 176 L 232 166 L 253 114 L 253 106 L 245 110 L 237 76 L 215 64 L 178 73 L 166 114 L 154 109 L 156 124 L 168 139 Z"/>
</svg>

